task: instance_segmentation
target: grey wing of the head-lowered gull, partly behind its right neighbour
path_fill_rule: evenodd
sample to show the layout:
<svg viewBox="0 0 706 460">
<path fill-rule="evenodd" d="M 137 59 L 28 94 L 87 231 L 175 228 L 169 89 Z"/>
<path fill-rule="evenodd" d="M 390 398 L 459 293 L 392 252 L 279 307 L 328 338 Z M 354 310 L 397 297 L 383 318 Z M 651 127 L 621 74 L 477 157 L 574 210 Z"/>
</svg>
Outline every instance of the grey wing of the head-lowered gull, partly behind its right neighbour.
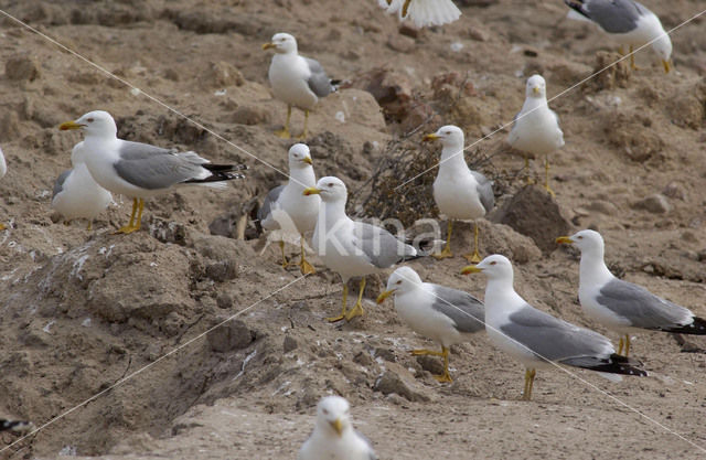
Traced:
<svg viewBox="0 0 706 460">
<path fill-rule="evenodd" d="M 431 308 L 446 314 L 459 332 L 479 332 L 485 329 L 485 307 L 468 292 L 434 285 Z"/>
</svg>

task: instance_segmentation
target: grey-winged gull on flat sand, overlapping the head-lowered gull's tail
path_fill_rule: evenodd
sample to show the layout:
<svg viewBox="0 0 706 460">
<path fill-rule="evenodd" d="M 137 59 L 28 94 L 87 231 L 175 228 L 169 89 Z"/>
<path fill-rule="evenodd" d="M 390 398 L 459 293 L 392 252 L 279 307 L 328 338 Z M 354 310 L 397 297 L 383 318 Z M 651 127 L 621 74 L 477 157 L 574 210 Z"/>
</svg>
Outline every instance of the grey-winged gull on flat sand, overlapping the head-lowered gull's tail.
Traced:
<svg viewBox="0 0 706 460">
<path fill-rule="evenodd" d="M 500 350 L 525 365 L 523 398 L 532 398 L 538 367 L 553 363 L 598 371 L 611 381 L 623 374 L 646 376 L 641 363 L 616 354 L 610 340 L 598 332 L 579 328 L 532 307 L 513 287 L 512 264 L 505 256 L 492 255 L 478 265 L 464 267 L 463 275 L 482 272 L 485 287 L 485 330 Z"/>
</svg>

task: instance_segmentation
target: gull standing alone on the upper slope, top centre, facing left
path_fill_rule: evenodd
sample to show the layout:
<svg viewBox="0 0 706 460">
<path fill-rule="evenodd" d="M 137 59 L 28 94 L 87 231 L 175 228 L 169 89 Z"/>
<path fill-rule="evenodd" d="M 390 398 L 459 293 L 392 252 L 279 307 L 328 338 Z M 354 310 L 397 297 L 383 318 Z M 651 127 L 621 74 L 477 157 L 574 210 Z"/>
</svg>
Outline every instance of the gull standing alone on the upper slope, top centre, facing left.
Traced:
<svg viewBox="0 0 706 460">
<path fill-rule="evenodd" d="M 313 109 L 321 97 L 335 90 L 331 79 L 319 63 L 309 57 L 300 56 L 297 52 L 297 39 L 288 33 L 276 33 L 263 50 L 275 50 L 269 65 L 269 84 L 275 97 L 287 104 L 287 121 L 285 129 L 277 131 L 277 136 L 289 139 L 289 120 L 291 107 L 299 107 L 304 111 L 304 130 L 299 139 L 308 136 L 309 110 Z"/>
</svg>

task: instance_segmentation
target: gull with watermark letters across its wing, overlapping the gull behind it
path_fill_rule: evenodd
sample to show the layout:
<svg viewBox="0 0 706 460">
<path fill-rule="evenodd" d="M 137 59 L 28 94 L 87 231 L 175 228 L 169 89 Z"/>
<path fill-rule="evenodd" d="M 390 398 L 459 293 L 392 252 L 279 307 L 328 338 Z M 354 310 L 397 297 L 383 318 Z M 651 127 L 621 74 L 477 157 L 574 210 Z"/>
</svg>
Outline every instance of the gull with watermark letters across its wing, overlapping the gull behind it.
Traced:
<svg viewBox="0 0 706 460">
<path fill-rule="evenodd" d="M 385 228 L 351 220 L 345 214 L 347 191 L 339 178 L 321 178 L 317 186 L 304 189 L 304 195 L 320 195 L 321 207 L 313 231 L 313 247 L 327 267 L 341 275 L 343 307 L 341 314 L 329 321 L 351 321 L 363 314 L 365 276 L 376 274 L 403 260 L 420 257 L 417 249 L 397 239 Z M 346 312 L 347 281 L 362 277 L 355 306 Z"/>
</svg>

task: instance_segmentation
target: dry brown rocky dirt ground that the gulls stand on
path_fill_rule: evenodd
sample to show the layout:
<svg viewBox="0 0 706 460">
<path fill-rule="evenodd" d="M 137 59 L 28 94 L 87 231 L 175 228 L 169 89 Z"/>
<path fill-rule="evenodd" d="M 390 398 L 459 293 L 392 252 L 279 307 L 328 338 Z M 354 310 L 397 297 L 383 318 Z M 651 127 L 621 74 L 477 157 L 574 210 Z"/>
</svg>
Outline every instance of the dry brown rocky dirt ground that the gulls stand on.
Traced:
<svg viewBox="0 0 706 460">
<path fill-rule="evenodd" d="M 553 96 L 617 57 L 593 28 L 566 21 L 559 0 L 459 3 L 458 22 L 400 33 L 373 0 L 0 1 L 142 90 L 0 20 L 9 164 L 0 215 L 11 224 L 0 233 L 0 416 L 42 425 L 106 391 L 0 458 L 295 458 L 317 400 L 331 393 L 351 402 L 382 459 L 703 454 L 694 446 L 706 447 L 703 339 L 680 345 L 668 334 L 639 334 L 634 354 L 655 377 L 610 384 L 589 372 L 546 371 L 534 400 L 523 403 L 523 368 L 483 335 L 453 347 L 456 381 L 437 384 L 428 372 L 437 363 L 407 353 L 434 345 L 399 322 L 392 302 L 372 302 L 385 274 L 370 284 L 365 318 L 329 324 L 341 295 L 336 275 L 321 267 L 297 280 L 275 248 L 258 255 L 257 228 L 240 216 L 284 180 L 264 162 L 286 168 L 290 145 L 272 135 L 285 107 L 271 100 L 270 56 L 260 50 L 275 32 L 293 33 L 303 54 L 346 81 L 313 114 L 307 142 L 318 174 L 340 175 L 352 190 L 398 140 L 436 158 L 418 146 L 442 122 L 462 126 L 469 142 L 501 127 L 532 73 L 546 77 Z M 704 8 L 702 0 L 644 3 L 667 29 Z M 591 226 L 605 235 L 617 274 L 706 315 L 704 28 L 699 19 L 675 32 L 668 75 L 644 50 L 639 72 L 620 64 L 550 104 L 566 139 L 552 156 L 560 215 L 522 228 L 544 252 L 492 218 L 481 233 L 485 252 L 513 257 L 516 288 L 537 307 L 607 332 L 580 313 L 577 255 L 541 240 L 563 225 Z M 143 231 L 129 236 L 113 234 L 128 201 L 118 200 L 94 232 L 56 223 L 51 189 L 81 138 L 56 127 L 93 109 L 110 111 L 124 138 L 245 162 L 248 179 L 223 193 L 181 189 L 149 200 Z M 295 131 L 301 122 L 297 111 Z M 512 200 L 524 183 L 522 158 L 503 147 L 505 136 L 472 149 L 490 157 L 480 168 L 496 179 L 499 207 L 546 213 L 552 202 L 537 193 Z M 538 175 L 541 161 L 532 168 Z M 415 193 L 424 193 L 420 184 Z M 238 224 L 245 239 L 228 237 Z M 470 243 L 469 227 L 459 228 L 458 254 Z M 483 279 L 459 275 L 463 261 L 411 265 L 425 279 L 482 296 Z M 3 434 L 1 446 L 15 439 Z"/>
</svg>

